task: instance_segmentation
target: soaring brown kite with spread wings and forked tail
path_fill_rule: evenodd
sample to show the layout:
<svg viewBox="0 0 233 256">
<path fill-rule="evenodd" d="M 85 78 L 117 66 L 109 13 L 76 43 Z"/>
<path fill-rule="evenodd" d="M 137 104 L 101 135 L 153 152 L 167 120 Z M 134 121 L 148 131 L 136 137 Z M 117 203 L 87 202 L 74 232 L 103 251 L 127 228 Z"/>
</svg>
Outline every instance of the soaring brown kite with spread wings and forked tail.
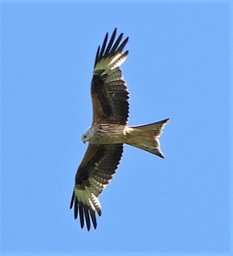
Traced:
<svg viewBox="0 0 233 256">
<path fill-rule="evenodd" d="M 129 53 L 123 52 L 129 37 L 123 42 L 122 38 L 123 33 L 116 38 L 116 28 L 109 40 L 107 33 L 95 56 L 91 82 L 93 122 L 82 136 L 83 142 L 89 144 L 75 176 L 70 202 L 74 219 L 79 215 L 81 228 L 86 223 L 88 231 L 91 222 L 97 227 L 95 214 L 101 215 L 98 196 L 116 172 L 123 144 L 164 158 L 159 136 L 169 118 L 148 125 L 127 126 L 129 93 L 120 66 Z"/>
</svg>

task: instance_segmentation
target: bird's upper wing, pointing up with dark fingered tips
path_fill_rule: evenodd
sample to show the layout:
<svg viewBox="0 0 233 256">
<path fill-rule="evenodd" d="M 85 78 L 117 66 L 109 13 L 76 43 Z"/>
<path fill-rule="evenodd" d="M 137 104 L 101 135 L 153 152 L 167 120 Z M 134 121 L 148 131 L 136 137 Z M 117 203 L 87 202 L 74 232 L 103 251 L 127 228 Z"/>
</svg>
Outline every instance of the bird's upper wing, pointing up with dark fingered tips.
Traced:
<svg viewBox="0 0 233 256">
<path fill-rule="evenodd" d="M 114 123 L 126 125 L 129 113 L 128 92 L 123 80 L 120 65 L 126 60 L 129 51 L 122 53 L 129 37 L 122 43 L 123 33 L 115 40 L 116 28 L 108 41 L 108 33 L 103 45 L 97 50 L 91 97 L 93 105 L 93 124 Z M 108 45 L 107 45 L 108 41 Z"/>
</svg>

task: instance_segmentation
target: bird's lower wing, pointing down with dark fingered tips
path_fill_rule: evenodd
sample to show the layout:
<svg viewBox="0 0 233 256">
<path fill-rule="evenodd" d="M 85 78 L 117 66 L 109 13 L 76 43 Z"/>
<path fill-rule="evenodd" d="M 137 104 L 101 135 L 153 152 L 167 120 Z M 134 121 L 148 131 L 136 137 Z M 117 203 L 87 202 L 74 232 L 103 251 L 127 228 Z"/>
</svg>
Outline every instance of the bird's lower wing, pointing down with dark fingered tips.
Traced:
<svg viewBox="0 0 233 256">
<path fill-rule="evenodd" d="M 76 173 L 70 202 L 70 209 L 74 206 L 74 219 L 79 215 L 81 228 L 84 226 L 84 218 L 88 231 L 91 221 L 96 228 L 95 213 L 101 215 L 98 196 L 110 183 L 122 153 L 123 144 L 89 144 Z"/>
</svg>

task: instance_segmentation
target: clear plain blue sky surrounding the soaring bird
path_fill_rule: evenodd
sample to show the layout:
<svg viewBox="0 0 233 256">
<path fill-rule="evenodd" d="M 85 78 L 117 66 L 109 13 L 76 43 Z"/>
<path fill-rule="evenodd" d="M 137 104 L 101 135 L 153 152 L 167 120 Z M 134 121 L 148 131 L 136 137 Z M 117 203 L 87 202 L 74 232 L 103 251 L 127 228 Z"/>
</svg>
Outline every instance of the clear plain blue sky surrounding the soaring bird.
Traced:
<svg viewBox="0 0 233 256">
<path fill-rule="evenodd" d="M 5 1 L 1 27 L 2 255 L 230 255 L 229 3 Z M 69 204 L 115 27 L 129 125 L 169 117 L 165 159 L 125 146 L 87 232 Z"/>
</svg>

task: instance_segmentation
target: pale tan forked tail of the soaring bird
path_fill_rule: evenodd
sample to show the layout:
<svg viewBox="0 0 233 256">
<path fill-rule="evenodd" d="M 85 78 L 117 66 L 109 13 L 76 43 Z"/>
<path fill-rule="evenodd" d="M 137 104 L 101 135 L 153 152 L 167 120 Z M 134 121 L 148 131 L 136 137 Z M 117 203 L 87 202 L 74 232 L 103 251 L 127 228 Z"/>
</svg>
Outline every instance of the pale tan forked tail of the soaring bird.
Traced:
<svg viewBox="0 0 233 256">
<path fill-rule="evenodd" d="M 132 128 L 133 131 L 126 144 L 164 158 L 160 150 L 159 136 L 168 121 L 169 118 L 148 125 L 131 126 L 130 128 Z"/>
</svg>

